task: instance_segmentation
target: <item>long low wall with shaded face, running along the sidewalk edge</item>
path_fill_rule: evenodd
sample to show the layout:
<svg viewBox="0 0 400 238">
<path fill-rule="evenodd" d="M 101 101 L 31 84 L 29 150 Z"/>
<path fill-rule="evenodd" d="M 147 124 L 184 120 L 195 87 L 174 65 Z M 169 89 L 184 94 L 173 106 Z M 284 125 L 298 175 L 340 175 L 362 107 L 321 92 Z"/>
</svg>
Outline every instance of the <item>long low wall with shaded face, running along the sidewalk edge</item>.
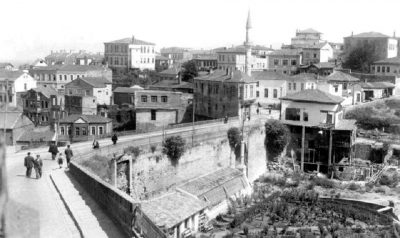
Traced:
<svg viewBox="0 0 400 238">
<path fill-rule="evenodd" d="M 140 204 L 124 192 L 102 181 L 73 161 L 70 164 L 70 173 L 107 212 L 115 224 L 121 227 L 127 237 L 137 237 L 137 231 L 146 238 L 166 237 L 141 211 Z M 133 227 L 135 227 L 135 231 L 133 231 Z"/>
</svg>

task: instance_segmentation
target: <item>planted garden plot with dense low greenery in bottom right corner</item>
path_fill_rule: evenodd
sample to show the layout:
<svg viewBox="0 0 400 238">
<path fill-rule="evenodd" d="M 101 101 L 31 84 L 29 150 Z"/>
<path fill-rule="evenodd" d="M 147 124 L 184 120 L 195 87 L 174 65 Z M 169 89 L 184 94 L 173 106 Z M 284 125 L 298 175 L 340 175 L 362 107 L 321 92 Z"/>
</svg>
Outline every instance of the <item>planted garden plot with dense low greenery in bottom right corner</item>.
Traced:
<svg viewBox="0 0 400 238">
<path fill-rule="evenodd" d="M 218 216 L 213 225 L 247 237 L 395 237 L 395 216 L 375 208 L 357 201 L 319 198 L 313 190 L 286 189 L 232 201 L 229 212 Z"/>
</svg>

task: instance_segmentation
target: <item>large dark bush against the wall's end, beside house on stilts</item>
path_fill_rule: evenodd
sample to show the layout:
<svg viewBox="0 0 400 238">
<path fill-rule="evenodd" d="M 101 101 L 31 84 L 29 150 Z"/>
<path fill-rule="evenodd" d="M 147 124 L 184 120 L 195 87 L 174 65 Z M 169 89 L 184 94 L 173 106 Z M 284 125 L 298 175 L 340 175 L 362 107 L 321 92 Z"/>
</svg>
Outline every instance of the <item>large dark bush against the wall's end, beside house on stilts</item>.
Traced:
<svg viewBox="0 0 400 238">
<path fill-rule="evenodd" d="M 290 142 L 289 129 L 278 120 L 268 120 L 265 123 L 264 145 L 269 158 L 280 155 Z"/>
</svg>

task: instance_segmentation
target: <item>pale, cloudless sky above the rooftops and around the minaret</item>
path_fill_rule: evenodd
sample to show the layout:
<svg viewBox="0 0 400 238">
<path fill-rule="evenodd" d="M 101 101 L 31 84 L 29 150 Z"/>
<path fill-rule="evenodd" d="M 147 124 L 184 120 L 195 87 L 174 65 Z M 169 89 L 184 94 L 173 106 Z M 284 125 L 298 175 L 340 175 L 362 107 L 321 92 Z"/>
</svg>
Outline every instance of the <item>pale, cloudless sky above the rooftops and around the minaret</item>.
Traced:
<svg viewBox="0 0 400 238">
<path fill-rule="evenodd" d="M 157 47 L 210 49 L 242 44 L 247 11 L 252 42 L 279 48 L 296 29 L 323 39 L 398 32 L 399 0 L 12 0 L 1 3 L 0 62 L 32 63 L 51 50 L 104 51 L 125 37 Z"/>
</svg>

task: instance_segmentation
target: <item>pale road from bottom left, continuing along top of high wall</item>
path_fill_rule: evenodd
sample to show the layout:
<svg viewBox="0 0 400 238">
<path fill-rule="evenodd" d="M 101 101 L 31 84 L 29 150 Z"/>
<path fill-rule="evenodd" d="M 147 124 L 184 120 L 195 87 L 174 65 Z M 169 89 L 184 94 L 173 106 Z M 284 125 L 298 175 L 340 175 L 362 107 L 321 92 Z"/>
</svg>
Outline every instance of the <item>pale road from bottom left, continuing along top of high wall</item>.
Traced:
<svg viewBox="0 0 400 238">
<path fill-rule="evenodd" d="M 272 115 L 255 116 L 247 121 L 245 125 L 260 124 L 267 118 L 276 117 Z M 209 137 L 210 132 L 221 137 L 226 135 L 226 130 L 232 126 L 238 126 L 238 120 L 231 120 L 227 124 L 214 122 L 197 125 L 194 127 L 195 142 L 201 142 Z M 129 145 L 146 145 L 160 143 L 164 136 L 180 134 L 187 143 L 191 143 L 193 128 L 183 127 L 165 131 L 121 136 L 116 146 L 112 146 L 110 138 L 99 140 L 101 149 L 96 153 L 113 152 L 122 150 Z M 223 134 L 221 134 L 223 133 Z M 77 156 L 85 156 L 93 152 L 92 141 L 73 143 L 71 148 Z M 65 148 L 60 147 L 60 151 Z M 8 215 L 6 218 L 6 229 L 9 237 L 80 237 L 79 231 L 68 214 L 68 211 L 50 181 L 49 173 L 59 170 L 56 161 L 51 160 L 47 147 L 29 150 L 34 156 L 40 154 L 43 158 L 43 177 L 36 180 L 25 177 L 23 160 L 28 151 L 13 153 L 8 151 L 7 180 L 9 188 Z M 106 151 L 104 151 L 106 150 Z M 34 176 L 34 172 L 32 173 Z"/>
</svg>

